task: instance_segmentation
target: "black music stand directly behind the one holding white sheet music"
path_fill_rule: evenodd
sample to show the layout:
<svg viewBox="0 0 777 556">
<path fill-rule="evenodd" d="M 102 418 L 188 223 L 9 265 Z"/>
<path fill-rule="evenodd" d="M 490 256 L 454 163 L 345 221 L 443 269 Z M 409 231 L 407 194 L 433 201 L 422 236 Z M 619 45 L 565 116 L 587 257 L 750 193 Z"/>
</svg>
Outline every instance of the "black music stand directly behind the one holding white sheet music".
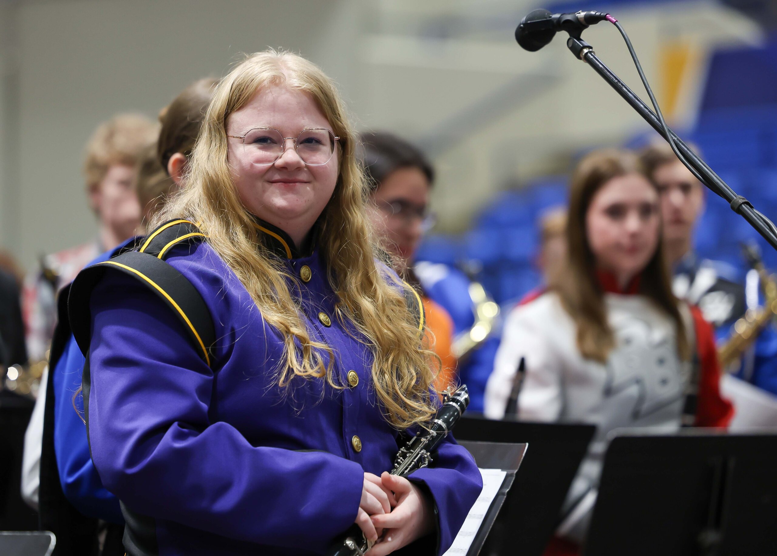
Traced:
<svg viewBox="0 0 777 556">
<path fill-rule="evenodd" d="M 540 556 L 545 551 L 595 432 L 593 425 L 493 421 L 472 415 L 458 420 L 457 440 L 521 442 L 530 447 L 483 554 Z"/>
</svg>

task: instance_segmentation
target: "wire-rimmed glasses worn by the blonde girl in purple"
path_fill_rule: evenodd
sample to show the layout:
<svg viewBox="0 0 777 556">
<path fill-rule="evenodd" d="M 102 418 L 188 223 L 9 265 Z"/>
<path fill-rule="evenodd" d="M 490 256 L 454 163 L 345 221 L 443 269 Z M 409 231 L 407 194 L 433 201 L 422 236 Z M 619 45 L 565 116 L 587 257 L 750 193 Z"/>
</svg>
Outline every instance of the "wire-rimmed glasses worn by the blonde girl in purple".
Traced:
<svg viewBox="0 0 777 556">
<path fill-rule="evenodd" d="M 326 128 L 301 130 L 297 137 L 284 137 L 272 127 L 256 127 L 245 135 L 227 135 L 242 141 L 243 154 L 253 164 L 271 165 L 286 151 L 286 141 L 291 139 L 294 150 L 308 166 L 325 165 L 332 158 L 335 142 L 340 139 Z"/>
</svg>

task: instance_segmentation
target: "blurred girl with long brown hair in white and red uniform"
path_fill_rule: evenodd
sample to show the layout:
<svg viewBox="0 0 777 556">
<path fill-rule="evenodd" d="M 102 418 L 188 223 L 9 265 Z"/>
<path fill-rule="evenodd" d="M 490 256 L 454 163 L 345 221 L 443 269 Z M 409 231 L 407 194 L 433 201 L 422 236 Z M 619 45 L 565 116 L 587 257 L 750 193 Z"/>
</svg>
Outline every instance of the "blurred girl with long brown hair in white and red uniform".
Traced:
<svg viewBox="0 0 777 556">
<path fill-rule="evenodd" d="M 720 397 L 712 328 L 671 292 L 659 194 L 636 155 L 597 151 L 577 165 L 566 242 L 563 280 L 507 317 L 486 389 L 486 416 L 500 419 L 525 358 L 521 419 L 597 426 L 563 507 L 557 533 L 565 540 L 555 554 L 576 553 L 585 538 L 612 430 L 723 427 L 732 415 Z M 696 373 L 698 391 L 687 394 Z"/>
</svg>

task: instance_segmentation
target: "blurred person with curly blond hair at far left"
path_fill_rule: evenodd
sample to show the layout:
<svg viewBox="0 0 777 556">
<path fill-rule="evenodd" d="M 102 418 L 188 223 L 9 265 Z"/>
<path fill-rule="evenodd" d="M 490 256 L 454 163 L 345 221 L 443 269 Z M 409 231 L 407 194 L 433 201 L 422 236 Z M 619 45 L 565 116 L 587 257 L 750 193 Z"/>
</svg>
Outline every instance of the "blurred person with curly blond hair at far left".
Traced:
<svg viewBox="0 0 777 556">
<path fill-rule="evenodd" d="M 30 362 L 43 360 L 57 320 L 57 292 L 99 253 L 131 238 L 140 226 L 134 166 L 157 126 L 145 116 L 120 114 L 103 122 L 86 144 L 84 174 L 89 207 L 96 214 L 97 237 L 89 243 L 47 255 L 40 270 L 27 276 L 23 315 Z"/>
</svg>

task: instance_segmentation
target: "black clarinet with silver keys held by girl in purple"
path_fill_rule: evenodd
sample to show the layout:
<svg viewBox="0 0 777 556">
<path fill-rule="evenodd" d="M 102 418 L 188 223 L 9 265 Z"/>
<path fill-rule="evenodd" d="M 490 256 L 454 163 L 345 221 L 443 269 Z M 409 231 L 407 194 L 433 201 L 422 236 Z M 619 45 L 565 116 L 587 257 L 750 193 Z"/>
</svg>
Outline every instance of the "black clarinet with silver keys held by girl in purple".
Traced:
<svg viewBox="0 0 777 556">
<path fill-rule="evenodd" d="M 423 431 L 423 434 L 419 432 L 413 436 L 405 447 L 396 453 L 394 467 L 390 473 L 404 477 L 416 469 L 427 467 L 432 461 L 432 453 L 453 429 L 468 405 L 469 392 L 465 385 L 458 387 L 452 394 L 445 391 L 442 407 L 437 410 L 437 415 L 434 415 L 429 429 Z M 372 543 L 364 538 L 359 526 L 354 524 L 329 547 L 326 556 L 364 556 L 371 546 Z"/>
</svg>

